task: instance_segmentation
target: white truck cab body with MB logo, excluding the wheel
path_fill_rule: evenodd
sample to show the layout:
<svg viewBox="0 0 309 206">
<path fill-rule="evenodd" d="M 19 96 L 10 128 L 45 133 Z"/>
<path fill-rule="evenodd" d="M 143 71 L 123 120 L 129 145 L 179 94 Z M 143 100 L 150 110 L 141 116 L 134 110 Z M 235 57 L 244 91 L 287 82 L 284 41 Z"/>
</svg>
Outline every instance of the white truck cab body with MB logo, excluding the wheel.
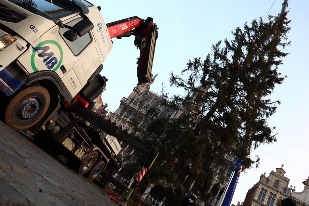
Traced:
<svg viewBox="0 0 309 206">
<path fill-rule="evenodd" d="M 86 1 L 82 1 L 89 6 L 89 13 L 84 14 L 85 16 L 81 15 L 81 9 L 72 1 L 30 2 L 32 4 L 23 0 L 1 1 L 0 10 L 8 11 L 7 15 L 11 15 L 11 19 L 18 22 L 10 22 L 10 18 L 0 18 L 0 23 L 7 28 L 0 29 L 3 42 L 0 71 L 6 70 L 13 61 L 26 75 L 44 70 L 53 71 L 74 97 L 86 85 L 112 48 L 104 19 L 98 7 Z M 17 17 L 16 13 L 20 17 Z M 77 39 L 74 41 L 64 37 L 68 28 L 61 28 L 56 24 L 60 21 L 63 25 L 73 27 L 85 17 L 94 27 L 83 36 L 76 35 Z M 6 87 L 13 90 L 8 91 L 7 95 L 18 89 L 13 89 L 14 85 L 10 86 L 4 78 L 1 79 L 2 84 L 7 84 Z M 7 90 L 5 86 L 1 88 L 4 92 Z"/>
</svg>

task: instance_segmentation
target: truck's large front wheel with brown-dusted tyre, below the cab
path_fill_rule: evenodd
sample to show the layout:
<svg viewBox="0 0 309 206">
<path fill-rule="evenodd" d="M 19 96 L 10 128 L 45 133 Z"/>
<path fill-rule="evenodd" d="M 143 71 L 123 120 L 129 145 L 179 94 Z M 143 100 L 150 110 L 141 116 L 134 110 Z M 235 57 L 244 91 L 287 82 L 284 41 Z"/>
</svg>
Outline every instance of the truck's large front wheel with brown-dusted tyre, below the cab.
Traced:
<svg viewBox="0 0 309 206">
<path fill-rule="evenodd" d="M 28 129 L 46 113 L 50 102 L 48 91 L 39 85 L 29 86 L 8 103 L 4 120 L 14 130 Z"/>
</svg>

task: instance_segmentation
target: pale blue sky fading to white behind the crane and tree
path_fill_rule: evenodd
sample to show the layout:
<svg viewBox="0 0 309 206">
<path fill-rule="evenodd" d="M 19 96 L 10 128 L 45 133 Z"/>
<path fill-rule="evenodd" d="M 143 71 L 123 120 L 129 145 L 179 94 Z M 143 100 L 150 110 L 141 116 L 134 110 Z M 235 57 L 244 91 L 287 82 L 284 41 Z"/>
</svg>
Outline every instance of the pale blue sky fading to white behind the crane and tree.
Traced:
<svg viewBox="0 0 309 206">
<path fill-rule="evenodd" d="M 267 15 L 273 0 L 171 0 L 171 1 L 101 1 L 89 0 L 101 6 L 105 23 L 138 16 L 142 19 L 152 17 L 159 28 L 155 48 L 152 73 L 158 74 L 150 90 L 160 93 L 162 84 L 165 90 L 177 92 L 169 84 L 170 73 L 180 74 L 186 68 L 188 60 L 194 57 L 205 59 L 211 52 L 211 45 L 219 40 L 231 40 L 231 31 L 236 27 L 243 28 L 245 22 Z M 283 0 L 276 0 L 270 14 L 277 15 L 281 11 Z M 308 59 L 308 19 L 309 1 L 290 0 L 288 19 L 291 30 L 288 38 L 291 46 L 285 52 L 290 53 L 283 59 L 279 72 L 287 75 L 282 85 L 277 85 L 271 95 L 272 100 L 281 100 L 277 112 L 268 123 L 276 127 L 277 142 L 261 145 L 252 151 L 252 157 L 260 157 L 257 169 L 242 172 L 232 200 L 232 204 L 243 202 L 248 189 L 266 172 L 266 176 L 284 164 L 285 176 L 290 185 L 296 186 L 296 192 L 303 191 L 302 182 L 308 179 L 308 130 L 307 110 L 309 98 Z M 267 19 L 266 19 L 267 20 Z M 265 21 L 266 21 L 265 20 Z M 109 111 L 116 111 L 122 97 L 128 97 L 136 86 L 136 58 L 139 50 L 134 46 L 134 36 L 122 40 L 113 39 L 113 48 L 104 61 L 101 72 L 108 78 L 106 91 L 102 95 L 104 103 L 108 103 Z"/>
</svg>

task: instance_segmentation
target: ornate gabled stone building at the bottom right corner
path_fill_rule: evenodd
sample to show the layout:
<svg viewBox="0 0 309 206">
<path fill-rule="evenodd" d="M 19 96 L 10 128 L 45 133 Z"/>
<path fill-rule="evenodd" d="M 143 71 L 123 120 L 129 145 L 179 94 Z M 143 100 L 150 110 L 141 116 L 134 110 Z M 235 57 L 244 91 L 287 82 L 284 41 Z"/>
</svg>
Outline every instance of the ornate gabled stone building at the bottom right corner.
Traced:
<svg viewBox="0 0 309 206">
<path fill-rule="evenodd" d="M 295 186 L 289 187 L 290 179 L 284 176 L 282 167 L 283 164 L 268 176 L 262 174 L 259 182 L 248 190 L 242 206 L 277 206 L 277 200 L 285 198 L 294 200 L 297 206 L 309 206 L 309 177 L 303 182 L 303 191 L 295 192 Z"/>
</svg>

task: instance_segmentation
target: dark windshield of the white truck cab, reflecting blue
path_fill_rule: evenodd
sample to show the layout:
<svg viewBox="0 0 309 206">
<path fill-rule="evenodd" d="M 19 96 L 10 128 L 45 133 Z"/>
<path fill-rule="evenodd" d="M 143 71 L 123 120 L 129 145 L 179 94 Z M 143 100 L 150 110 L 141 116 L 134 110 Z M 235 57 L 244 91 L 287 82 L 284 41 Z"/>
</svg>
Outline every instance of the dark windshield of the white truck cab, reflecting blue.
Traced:
<svg viewBox="0 0 309 206">
<path fill-rule="evenodd" d="M 35 14 L 48 19 L 59 19 L 73 13 L 81 11 L 81 8 L 73 1 L 64 0 L 10 0 L 12 3 L 27 9 Z M 92 6 L 91 3 L 83 1 L 85 5 Z"/>
</svg>

